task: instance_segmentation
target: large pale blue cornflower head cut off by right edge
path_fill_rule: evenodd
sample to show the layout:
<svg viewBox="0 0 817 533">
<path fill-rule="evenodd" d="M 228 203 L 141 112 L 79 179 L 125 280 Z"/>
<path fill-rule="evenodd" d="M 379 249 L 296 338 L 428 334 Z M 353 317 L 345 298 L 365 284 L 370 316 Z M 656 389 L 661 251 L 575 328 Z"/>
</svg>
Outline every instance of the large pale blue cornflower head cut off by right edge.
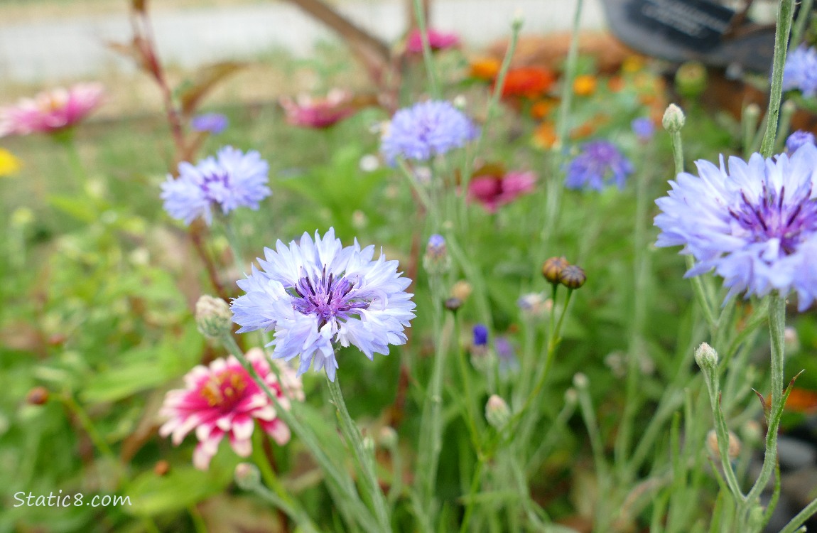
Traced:
<svg viewBox="0 0 817 533">
<path fill-rule="evenodd" d="M 695 258 L 686 276 L 713 270 L 730 289 L 765 296 L 797 292 L 801 311 L 817 298 L 817 147 L 793 155 L 743 161 L 727 170 L 698 161 L 699 176 L 682 172 L 669 195 L 656 200 L 663 213 L 657 246 L 684 246 Z"/>
</svg>

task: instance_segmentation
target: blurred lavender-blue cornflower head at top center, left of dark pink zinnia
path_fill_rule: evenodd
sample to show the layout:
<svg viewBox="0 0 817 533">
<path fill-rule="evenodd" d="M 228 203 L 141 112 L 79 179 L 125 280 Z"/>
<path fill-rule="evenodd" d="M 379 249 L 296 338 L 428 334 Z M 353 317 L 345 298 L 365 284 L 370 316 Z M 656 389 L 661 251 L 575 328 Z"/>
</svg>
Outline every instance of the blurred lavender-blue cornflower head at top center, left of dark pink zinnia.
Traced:
<svg viewBox="0 0 817 533">
<path fill-rule="evenodd" d="M 390 164 L 399 156 L 427 161 L 465 146 L 478 132 L 471 119 L 449 102 L 425 101 L 395 113 L 380 149 Z"/>
</svg>

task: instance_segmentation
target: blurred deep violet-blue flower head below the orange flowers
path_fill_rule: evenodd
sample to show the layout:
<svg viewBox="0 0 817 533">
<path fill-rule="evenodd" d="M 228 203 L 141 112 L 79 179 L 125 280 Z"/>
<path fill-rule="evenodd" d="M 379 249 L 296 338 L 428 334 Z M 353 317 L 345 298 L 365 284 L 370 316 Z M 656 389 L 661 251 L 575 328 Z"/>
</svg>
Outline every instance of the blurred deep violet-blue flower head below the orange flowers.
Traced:
<svg viewBox="0 0 817 533">
<path fill-rule="evenodd" d="M 568 189 L 602 190 L 614 182 L 624 188 L 632 164 L 608 141 L 592 141 L 582 146 L 582 153 L 567 168 L 565 186 Z"/>
</svg>

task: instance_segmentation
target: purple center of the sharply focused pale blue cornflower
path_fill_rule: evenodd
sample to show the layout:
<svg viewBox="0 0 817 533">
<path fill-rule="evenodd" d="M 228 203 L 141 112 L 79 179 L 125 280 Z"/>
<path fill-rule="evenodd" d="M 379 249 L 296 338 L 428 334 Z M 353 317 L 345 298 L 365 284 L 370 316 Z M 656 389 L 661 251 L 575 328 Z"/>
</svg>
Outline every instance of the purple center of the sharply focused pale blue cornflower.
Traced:
<svg viewBox="0 0 817 533">
<path fill-rule="evenodd" d="M 355 298 L 355 280 L 346 276 L 326 275 L 326 267 L 320 277 L 301 276 L 297 284 L 290 289 L 292 307 L 304 315 L 318 316 L 318 329 L 329 320 L 348 320 L 350 316 L 360 316 L 360 310 L 366 309 L 369 302 Z"/>
</svg>

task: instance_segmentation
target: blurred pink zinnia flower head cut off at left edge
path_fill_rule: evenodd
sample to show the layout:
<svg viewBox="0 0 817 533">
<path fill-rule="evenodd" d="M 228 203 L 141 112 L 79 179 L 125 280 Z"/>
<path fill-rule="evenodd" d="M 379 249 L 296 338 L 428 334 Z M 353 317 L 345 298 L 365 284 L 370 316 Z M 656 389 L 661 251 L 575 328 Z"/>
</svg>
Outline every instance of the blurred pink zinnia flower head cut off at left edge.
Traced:
<svg viewBox="0 0 817 533">
<path fill-rule="evenodd" d="M 0 137 L 55 133 L 73 127 L 100 104 L 101 83 L 78 83 L 23 98 L 16 105 L 0 107 Z"/>
</svg>

